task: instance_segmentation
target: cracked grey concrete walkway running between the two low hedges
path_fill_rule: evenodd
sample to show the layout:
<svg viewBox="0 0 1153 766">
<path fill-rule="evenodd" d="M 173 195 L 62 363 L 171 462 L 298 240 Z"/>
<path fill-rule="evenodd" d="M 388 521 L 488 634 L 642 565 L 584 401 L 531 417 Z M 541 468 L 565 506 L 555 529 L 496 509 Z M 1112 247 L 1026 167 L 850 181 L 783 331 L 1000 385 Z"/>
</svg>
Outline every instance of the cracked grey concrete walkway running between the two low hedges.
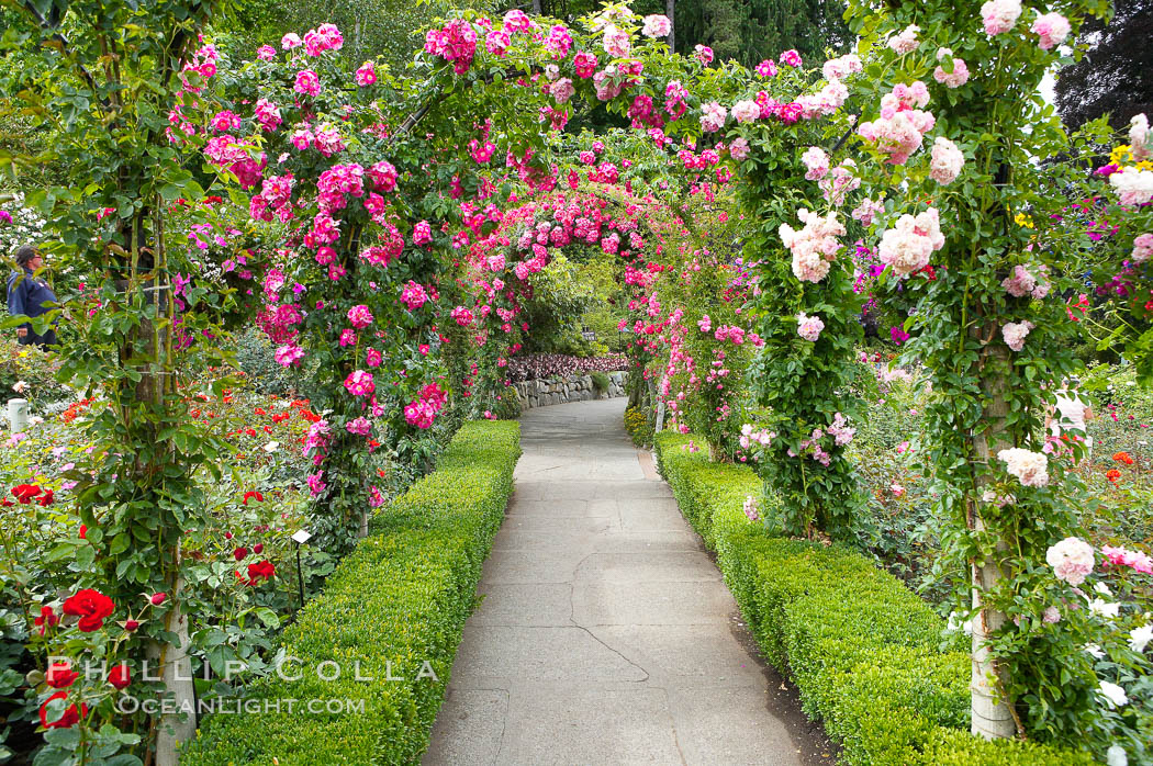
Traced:
<svg viewBox="0 0 1153 766">
<path fill-rule="evenodd" d="M 624 407 L 521 419 L 517 492 L 423 764 L 807 763 Z"/>
</svg>

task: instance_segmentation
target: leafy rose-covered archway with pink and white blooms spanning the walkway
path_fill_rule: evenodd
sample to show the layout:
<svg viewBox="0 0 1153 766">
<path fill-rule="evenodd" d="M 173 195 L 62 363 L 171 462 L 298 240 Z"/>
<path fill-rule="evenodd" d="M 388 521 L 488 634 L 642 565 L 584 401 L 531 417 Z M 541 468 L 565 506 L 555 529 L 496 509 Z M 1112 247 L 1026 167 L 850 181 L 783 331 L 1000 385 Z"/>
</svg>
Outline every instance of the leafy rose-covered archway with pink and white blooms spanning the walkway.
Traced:
<svg viewBox="0 0 1153 766">
<path fill-rule="evenodd" d="M 402 73 L 347 71 L 331 24 L 232 61 L 198 38 L 205 3 L 25 9 L 39 31 L 24 45 L 44 53 L 21 84 L 32 111 L 65 117 L 60 153 L 86 181 L 30 200 L 91 275 L 61 296 L 88 341 L 61 351 L 63 374 L 110 397 L 91 427 L 121 458 L 77 473 L 78 514 L 108 544 L 106 590 L 172 599 L 131 640 L 187 662 L 183 538 L 212 523 L 193 473 L 227 448 L 191 415 L 220 392 L 190 386 L 227 362 L 220 336 L 257 323 L 278 364 L 311 371 L 310 530 L 340 555 L 383 502 L 383 458 L 425 461 L 423 434 L 497 416 L 535 276 L 591 247 L 631 294 L 635 401 L 755 465 L 749 518 L 806 540 L 844 541 L 859 521 L 858 318 L 877 301 L 904 311 L 905 358 L 933 389 L 915 450 L 966 572 L 972 729 L 1105 750 L 1098 678 L 1069 659 L 1088 628 L 1070 614 L 1068 634 L 1040 632 L 1092 567 L 1062 541 L 1077 480 L 1039 435 L 1042 381 L 1075 371 L 1061 253 L 1092 247 L 1061 190 L 1095 195 L 1140 294 L 1153 173 L 1035 161 L 1108 139 L 1070 139 L 1035 94 L 1103 5 L 853 3 L 856 53 L 814 68 L 786 51 L 754 71 L 671 54 L 668 20 L 623 5 L 574 28 L 462 12 Z M 99 33 L 69 35 L 69 18 Z M 630 128 L 565 134 L 576 101 Z M 1131 144 L 1148 157 L 1147 123 Z M 191 697 L 178 673 L 164 687 Z M 181 715 L 150 730 L 158 763 L 193 735 Z"/>
</svg>

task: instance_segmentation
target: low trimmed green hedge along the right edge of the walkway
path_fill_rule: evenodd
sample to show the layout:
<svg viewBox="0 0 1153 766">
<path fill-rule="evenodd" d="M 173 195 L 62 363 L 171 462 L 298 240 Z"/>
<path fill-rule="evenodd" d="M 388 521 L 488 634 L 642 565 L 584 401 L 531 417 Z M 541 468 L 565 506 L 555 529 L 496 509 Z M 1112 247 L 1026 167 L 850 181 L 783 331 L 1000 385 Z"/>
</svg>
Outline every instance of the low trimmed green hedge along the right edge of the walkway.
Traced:
<svg viewBox="0 0 1153 766">
<path fill-rule="evenodd" d="M 768 660 L 792 676 L 847 764 L 1071 766 L 1087 753 L 969 734 L 964 636 L 904 583 L 841 546 L 770 536 L 743 505 L 761 496 L 744 465 L 710 463 L 656 435 L 658 467 L 689 523 L 716 552 L 725 583 Z M 965 639 L 965 640 L 962 640 Z M 944 645 L 944 649 L 942 646 Z"/>
</svg>

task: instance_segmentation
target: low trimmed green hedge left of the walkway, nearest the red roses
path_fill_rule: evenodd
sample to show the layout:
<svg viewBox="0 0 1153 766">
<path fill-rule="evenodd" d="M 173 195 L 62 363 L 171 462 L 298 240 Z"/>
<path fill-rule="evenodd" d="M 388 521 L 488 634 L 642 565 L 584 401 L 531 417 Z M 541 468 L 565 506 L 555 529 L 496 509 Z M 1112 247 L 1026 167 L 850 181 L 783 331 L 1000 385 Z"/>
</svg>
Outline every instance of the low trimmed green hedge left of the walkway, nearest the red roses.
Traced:
<svg viewBox="0 0 1153 766">
<path fill-rule="evenodd" d="M 376 516 L 370 536 L 346 556 L 285 631 L 285 666 L 253 690 L 262 712 L 213 714 L 181 757 L 186 766 L 415 763 L 428 748 L 481 564 L 513 490 L 520 426 L 466 424 L 437 469 Z M 318 666 L 342 669 L 333 681 Z M 428 661 L 437 681 L 417 678 Z M 360 663 L 357 681 L 355 663 Z M 391 666 L 390 666 L 391 662 Z M 387 681 L 387 670 L 404 681 Z M 333 666 L 321 668 L 332 676 Z M 289 713 L 264 700 L 296 700 Z M 352 700 L 345 712 L 310 713 L 307 700 Z M 349 713 L 363 703 L 363 710 Z"/>
</svg>

